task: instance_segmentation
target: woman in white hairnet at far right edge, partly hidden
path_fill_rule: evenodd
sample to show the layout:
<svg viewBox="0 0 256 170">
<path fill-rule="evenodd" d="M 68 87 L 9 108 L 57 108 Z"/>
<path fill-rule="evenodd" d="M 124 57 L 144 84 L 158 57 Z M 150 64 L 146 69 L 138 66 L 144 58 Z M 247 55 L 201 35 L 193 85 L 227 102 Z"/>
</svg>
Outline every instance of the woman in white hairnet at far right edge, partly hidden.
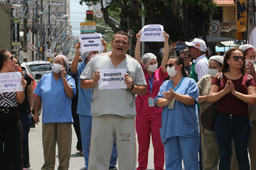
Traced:
<svg viewBox="0 0 256 170">
<path fill-rule="evenodd" d="M 239 46 L 239 49 L 243 51 L 245 57 L 245 71 L 246 74 L 251 75 L 256 81 L 256 71 L 254 67 L 256 51 L 250 44 L 244 44 Z M 256 104 L 248 104 L 249 117 L 252 123 L 251 136 L 248 143 L 248 151 L 251 160 L 251 169 L 256 169 Z"/>
</svg>

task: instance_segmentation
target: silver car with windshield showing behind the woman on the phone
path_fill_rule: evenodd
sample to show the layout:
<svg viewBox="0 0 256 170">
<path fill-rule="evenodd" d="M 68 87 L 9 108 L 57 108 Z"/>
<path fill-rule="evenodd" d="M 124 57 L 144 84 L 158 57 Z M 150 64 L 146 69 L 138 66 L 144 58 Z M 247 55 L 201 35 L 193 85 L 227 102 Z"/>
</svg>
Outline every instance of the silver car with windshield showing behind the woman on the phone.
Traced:
<svg viewBox="0 0 256 170">
<path fill-rule="evenodd" d="M 44 74 L 48 74 L 52 72 L 52 64 L 50 62 L 45 61 L 35 61 L 35 62 L 28 62 L 27 65 L 29 66 L 32 74 L 41 74 L 42 76 Z M 41 77 L 35 80 L 39 82 Z"/>
</svg>

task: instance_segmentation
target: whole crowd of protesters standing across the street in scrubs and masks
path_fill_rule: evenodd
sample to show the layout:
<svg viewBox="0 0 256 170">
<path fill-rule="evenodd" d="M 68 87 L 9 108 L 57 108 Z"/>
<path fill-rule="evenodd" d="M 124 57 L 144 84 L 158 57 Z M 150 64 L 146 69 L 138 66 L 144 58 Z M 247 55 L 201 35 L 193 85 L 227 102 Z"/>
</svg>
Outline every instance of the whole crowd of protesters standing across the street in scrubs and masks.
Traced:
<svg viewBox="0 0 256 170">
<path fill-rule="evenodd" d="M 68 170 L 72 123 L 78 138 L 76 149 L 85 160 L 80 170 L 117 170 L 117 159 L 121 170 L 145 170 L 151 138 L 155 170 L 163 170 L 164 163 L 167 170 L 181 170 L 182 160 L 188 170 L 256 169 L 255 48 L 241 45 L 224 56 L 207 58 L 205 42 L 195 38 L 186 42 L 188 48 L 180 56 L 169 56 L 169 35 L 163 32 L 164 52 L 158 68 L 154 54 L 141 58 L 141 31 L 136 37 L 134 58 L 126 54 L 130 41 L 123 31 L 114 34 L 111 52 L 102 39 L 103 54 L 80 54 L 78 42 L 71 76 L 66 74 L 67 57 L 54 58 L 53 72 L 43 75 L 34 89 L 33 120 L 37 124 L 43 104 L 45 162 L 41 169 L 54 169 L 57 143 L 58 169 Z M 0 50 L 0 73 L 21 71 L 18 64 L 10 52 Z M 99 89 L 100 70 L 123 68 L 126 89 Z M 27 74 L 22 74 L 20 82 L 23 91 L 0 93 L 0 157 L 6 170 L 30 167 L 33 87 Z M 214 132 L 210 132 L 201 125 L 200 115 L 214 102 L 217 113 Z M 15 157 L 10 155 L 13 152 Z"/>
</svg>

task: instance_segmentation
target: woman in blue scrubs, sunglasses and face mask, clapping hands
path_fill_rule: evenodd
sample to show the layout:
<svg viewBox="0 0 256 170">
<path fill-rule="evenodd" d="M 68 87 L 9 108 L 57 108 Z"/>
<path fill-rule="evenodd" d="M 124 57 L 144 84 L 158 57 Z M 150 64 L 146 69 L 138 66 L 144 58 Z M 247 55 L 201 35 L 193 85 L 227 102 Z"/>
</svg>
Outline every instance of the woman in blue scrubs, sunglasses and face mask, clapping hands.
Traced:
<svg viewBox="0 0 256 170">
<path fill-rule="evenodd" d="M 166 170 L 199 170 L 198 87 L 188 78 L 181 57 L 172 56 L 166 65 L 170 80 L 163 82 L 156 107 L 163 107 L 161 140 L 165 147 Z"/>
</svg>

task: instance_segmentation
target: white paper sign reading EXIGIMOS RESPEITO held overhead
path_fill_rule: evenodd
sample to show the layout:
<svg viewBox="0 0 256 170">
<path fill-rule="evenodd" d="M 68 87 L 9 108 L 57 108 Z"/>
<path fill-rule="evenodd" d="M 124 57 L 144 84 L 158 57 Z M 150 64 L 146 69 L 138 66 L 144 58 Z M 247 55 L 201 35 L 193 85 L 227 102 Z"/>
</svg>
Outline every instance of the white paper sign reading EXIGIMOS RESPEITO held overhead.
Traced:
<svg viewBox="0 0 256 170">
<path fill-rule="evenodd" d="M 159 24 L 146 25 L 141 30 L 140 41 L 165 41 L 163 26 Z"/>
</svg>

